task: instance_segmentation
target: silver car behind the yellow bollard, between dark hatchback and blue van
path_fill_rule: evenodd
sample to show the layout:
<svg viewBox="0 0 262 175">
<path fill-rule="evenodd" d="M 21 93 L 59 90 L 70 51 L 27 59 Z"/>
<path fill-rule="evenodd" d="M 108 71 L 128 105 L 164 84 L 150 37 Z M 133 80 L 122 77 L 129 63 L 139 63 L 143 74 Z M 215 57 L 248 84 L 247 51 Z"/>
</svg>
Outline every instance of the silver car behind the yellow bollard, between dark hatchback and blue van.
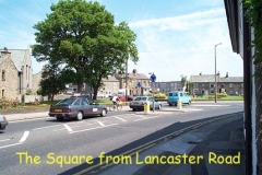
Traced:
<svg viewBox="0 0 262 175">
<path fill-rule="evenodd" d="M 155 109 L 162 108 L 162 103 L 156 101 L 153 96 L 138 96 L 130 102 L 129 107 L 132 108 L 133 110 L 144 109 L 144 105 L 146 102 L 150 102 L 151 109 L 153 109 L 153 102 L 155 103 Z"/>
</svg>

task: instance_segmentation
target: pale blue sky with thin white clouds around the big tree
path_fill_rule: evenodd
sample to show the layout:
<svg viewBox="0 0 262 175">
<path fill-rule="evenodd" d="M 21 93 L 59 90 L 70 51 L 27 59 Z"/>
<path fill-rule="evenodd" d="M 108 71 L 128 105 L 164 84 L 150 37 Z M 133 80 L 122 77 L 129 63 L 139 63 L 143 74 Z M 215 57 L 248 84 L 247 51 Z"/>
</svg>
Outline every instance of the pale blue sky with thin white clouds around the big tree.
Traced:
<svg viewBox="0 0 262 175">
<path fill-rule="evenodd" d="M 46 19 L 58 0 L 0 0 L 0 48 L 24 49 L 35 44 L 33 25 Z M 126 21 L 138 35 L 140 61 L 129 61 L 129 71 L 156 81 L 179 81 L 181 74 L 214 74 L 215 45 L 217 71 L 242 77 L 242 58 L 233 52 L 223 0 L 98 0 Z M 37 73 L 43 62 L 33 60 Z"/>
</svg>

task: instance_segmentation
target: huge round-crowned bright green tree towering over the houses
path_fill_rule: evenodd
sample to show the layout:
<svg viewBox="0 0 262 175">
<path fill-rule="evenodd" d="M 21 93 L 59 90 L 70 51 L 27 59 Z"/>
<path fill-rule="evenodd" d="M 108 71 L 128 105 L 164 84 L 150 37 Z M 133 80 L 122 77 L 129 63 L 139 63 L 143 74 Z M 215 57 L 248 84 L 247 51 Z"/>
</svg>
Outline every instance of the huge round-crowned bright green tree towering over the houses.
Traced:
<svg viewBox="0 0 262 175">
<path fill-rule="evenodd" d="M 129 55 L 138 61 L 135 34 L 126 23 L 115 25 L 114 15 L 98 2 L 60 0 L 47 19 L 34 25 L 37 61 L 64 65 L 63 72 L 81 93 L 83 83 L 97 93 L 102 78 L 123 69 Z M 94 95 L 96 98 L 96 94 Z"/>
</svg>

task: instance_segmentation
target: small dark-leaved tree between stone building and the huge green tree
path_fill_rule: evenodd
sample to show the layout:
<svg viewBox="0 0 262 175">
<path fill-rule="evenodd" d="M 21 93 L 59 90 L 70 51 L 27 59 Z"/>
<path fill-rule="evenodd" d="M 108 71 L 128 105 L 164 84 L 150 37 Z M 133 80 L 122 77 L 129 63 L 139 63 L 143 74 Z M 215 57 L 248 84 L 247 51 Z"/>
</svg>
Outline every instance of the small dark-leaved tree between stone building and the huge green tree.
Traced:
<svg viewBox="0 0 262 175">
<path fill-rule="evenodd" d="M 53 96 L 66 90 L 63 74 L 57 65 L 46 65 L 41 73 L 40 93 L 41 96 L 48 96 L 48 101 L 53 101 Z"/>
</svg>

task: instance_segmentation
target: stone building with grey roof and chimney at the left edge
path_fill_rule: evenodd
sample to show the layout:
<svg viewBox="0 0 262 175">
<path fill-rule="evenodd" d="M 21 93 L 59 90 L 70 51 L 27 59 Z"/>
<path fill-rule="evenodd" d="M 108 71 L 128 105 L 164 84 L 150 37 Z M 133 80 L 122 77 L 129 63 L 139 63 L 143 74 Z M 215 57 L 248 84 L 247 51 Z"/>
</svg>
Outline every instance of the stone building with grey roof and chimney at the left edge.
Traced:
<svg viewBox="0 0 262 175">
<path fill-rule="evenodd" d="M 0 55 L 0 97 L 10 100 L 22 96 L 32 90 L 33 69 L 29 49 L 3 48 Z"/>
</svg>

